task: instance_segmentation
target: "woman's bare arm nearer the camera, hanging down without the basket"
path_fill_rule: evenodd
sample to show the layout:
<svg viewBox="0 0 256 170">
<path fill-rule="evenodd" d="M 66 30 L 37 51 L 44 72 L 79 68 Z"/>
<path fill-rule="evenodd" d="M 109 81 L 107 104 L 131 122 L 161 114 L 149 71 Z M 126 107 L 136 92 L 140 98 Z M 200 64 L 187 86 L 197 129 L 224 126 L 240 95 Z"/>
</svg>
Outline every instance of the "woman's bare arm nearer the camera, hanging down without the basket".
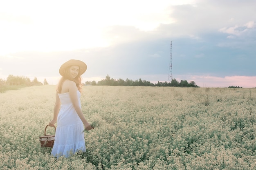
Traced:
<svg viewBox="0 0 256 170">
<path fill-rule="evenodd" d="M 70 95 L 70 99 L 72 101 L 72 104 L 73 104 L 73 106 L 76 110 L 76 113 L 79 116 L 79 118 L 81 119 L 81 121 L 83 122 L 83 124 L 85 126 L 85 129 L 86 130 L 92 129 L 92 126 L 87 122 L 87 120 L 83 116 L 83 112 L 81 110 L 81 107 L 79 106 L 79 100 L 78 100 L 78 97 L 77 97 L 77 87 L 76 87 L 75 82 L 73 82 L 73 81 L 68 82 L 68 93 Z"/>
</svg>

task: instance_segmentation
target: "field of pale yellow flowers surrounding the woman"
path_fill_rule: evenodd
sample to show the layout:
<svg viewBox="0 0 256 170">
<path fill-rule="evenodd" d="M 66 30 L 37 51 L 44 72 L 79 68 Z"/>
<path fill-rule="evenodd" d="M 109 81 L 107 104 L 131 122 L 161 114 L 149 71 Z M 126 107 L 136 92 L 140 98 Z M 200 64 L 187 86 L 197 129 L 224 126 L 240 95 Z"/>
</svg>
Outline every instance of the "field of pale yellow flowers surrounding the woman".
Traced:
<svg viewBox="0 0 256 170">
<path fill-rule="evenodd" d="M 39 141 L 54 103 L 53 85 L 0 93 L 1 170 L 256 169 L 256 88 L 83 86 L 95 128 L 59 159 Z"/>
</svg>

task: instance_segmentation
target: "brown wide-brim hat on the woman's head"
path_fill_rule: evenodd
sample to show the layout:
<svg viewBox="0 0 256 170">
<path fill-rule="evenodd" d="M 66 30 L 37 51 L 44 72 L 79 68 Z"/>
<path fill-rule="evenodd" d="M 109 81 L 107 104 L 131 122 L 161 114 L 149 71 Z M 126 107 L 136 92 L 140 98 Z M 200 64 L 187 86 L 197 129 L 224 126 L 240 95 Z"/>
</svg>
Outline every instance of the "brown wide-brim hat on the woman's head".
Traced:
<svg viewBox="0 0 256 170">
<path fill-rule="evenodd" d="M 59 73 L 63 76 L 65 73 L 65 69 L 69 66 L 79 66 L 78 75 L 82 75 L 87 69 L 87 65 L 84 62 L 82 62 L 81 60 L 71 59 L 61 65 L 61 67 L 59 69 Z"/>
</svg>

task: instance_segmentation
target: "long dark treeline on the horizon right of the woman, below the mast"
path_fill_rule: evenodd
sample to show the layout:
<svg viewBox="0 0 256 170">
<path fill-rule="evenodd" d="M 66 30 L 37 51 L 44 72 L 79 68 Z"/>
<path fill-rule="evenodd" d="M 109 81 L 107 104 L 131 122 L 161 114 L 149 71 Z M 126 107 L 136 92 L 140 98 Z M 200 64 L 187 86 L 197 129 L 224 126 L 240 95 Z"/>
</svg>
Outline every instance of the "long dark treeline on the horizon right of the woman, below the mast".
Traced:
<svg viewBox="0 0 256 170">
<path fill-rule="evenodd" d="M 99 82 L 96 81 L 87 81 L 85 82 L 86 85 L 92 86 L 159 86 L 159 87 L 199 87 L 195 84 L 194 81 L 187 82 L 186 80 L 181 80 L 180 82 L 176 79 L 173 79 L 171 82 L 157 82 L 155 84 L 146 81 L 146 80 L 130 80 L 130 79 L 113 79 L 110 78 L 109 75 L 106 75 L 105 79 L 102 79 Z"/>
</svg>

